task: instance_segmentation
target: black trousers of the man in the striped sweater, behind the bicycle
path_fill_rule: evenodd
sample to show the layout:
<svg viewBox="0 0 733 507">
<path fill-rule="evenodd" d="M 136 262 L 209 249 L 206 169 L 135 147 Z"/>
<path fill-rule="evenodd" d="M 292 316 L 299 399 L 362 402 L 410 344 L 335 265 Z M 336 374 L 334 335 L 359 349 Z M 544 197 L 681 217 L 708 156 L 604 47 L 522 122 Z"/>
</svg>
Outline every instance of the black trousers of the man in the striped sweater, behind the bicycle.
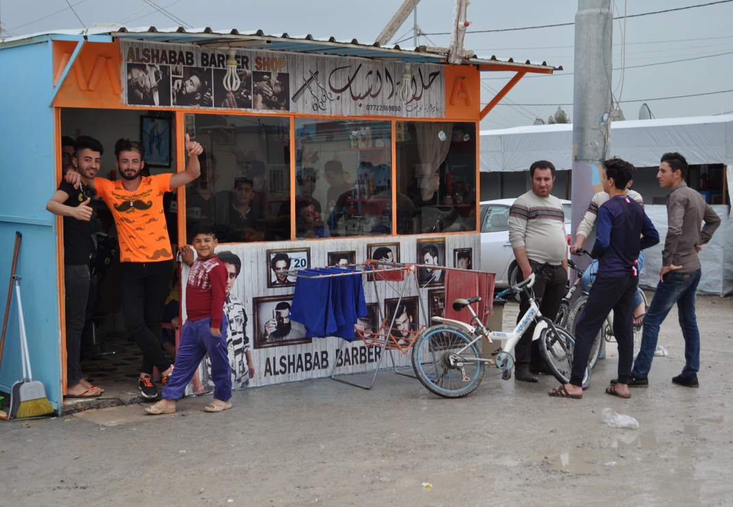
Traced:
<svg viewBox="0 0 733 507">
<path fill-rule="evenodd" d="M 532 269 L 539 266 L 539 262 L 529 261 Z M 520 272 L 521 274 L 521 272 Z M 524 278 L 522 277 L 523 281 Z M 557 266 L 548 266 L 540 275 L 534 280 L 532 286 L 534 290 L 534 300 L 539 305 L 539 311 L 542 315 L 549 319 L 555 319 L 557 317 L 557 311 L 560 309 L 560 303 L 562 297 L 565 295 L 567 290 L 567 270 L 562 267 L 562 264 Z M 525 312 L 529 308 L 529 299 L 522 292 L 520 295 L 519 302 L 519 315 L 517 315 L 517 323 L 522 319 Z M 526 331 L 519 338 L 517 344 L 514 347 L 515 363 L 517 368 L 519 366 L 530 365 L 533 369 L 539 369 L 542 365 L 542 356 L 539 355 L 539 349 L 537 348 L 537 342 L 532 341 L 534 335 L 534 327 L 536 322 L 532 322 Z"/>
</svg>

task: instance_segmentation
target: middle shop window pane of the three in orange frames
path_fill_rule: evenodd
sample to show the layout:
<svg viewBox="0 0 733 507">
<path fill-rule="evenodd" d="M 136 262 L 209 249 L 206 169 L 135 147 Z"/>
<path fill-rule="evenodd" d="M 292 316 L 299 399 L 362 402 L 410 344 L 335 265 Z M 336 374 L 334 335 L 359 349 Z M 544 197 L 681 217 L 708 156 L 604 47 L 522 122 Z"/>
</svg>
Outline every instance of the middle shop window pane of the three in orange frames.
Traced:
<svg viewBox="0 0 733 507">
<path fill-rule="evenodd" d="M 296 237 L 391 234 L 390 122 L 297 119 L 295 129 Z"/>
</svg>

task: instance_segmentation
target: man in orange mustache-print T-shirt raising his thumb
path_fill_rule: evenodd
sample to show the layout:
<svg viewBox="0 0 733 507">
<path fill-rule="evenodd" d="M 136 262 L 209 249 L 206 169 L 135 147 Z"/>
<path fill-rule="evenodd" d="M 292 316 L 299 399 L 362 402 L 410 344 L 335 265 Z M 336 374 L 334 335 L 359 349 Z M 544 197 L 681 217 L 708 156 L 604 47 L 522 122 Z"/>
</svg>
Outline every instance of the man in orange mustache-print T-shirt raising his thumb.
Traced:
<svg viewBox="0 0 733 507">
<path fill-rule="evenodd" d="M 158 397 L 152 369 L 168 382 L 171 363 L 160 344 L 163 306 L 168 295 L 173 253 L 163 211 L 163 193 L 195 180 L 201 174 L 198 155 L 201 144 L 185 136 L 188 165 L 185 171 L 145 177 L 145 149 L 137 141 L 118 139 L 114 144 L 115 166 L 122 180 L 89 180 L 89 188 L 106 202 L 117 226 L 119 260 L 122 263 L 122 314 L 142 351 L 139 388 L 147 399 Z M 67 173 L 67 182 L 78 183 L 78 173 Z"/>
</svg>

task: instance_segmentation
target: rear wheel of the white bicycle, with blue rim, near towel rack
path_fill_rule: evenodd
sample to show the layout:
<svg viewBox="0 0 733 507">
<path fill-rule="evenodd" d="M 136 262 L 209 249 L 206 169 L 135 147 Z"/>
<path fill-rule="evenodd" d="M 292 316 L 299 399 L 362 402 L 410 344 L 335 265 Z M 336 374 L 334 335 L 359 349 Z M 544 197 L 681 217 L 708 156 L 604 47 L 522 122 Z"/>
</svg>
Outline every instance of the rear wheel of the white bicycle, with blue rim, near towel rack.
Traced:
<svg viewBox="0 0 733 507">
<path fill-rule="evenodd" d="M 467 333 L 451 325 L 435 325 L 420 333 L 412 347 L 413 369 L 428 391 L 460 398 L 479 387 L 484 363 L 479 361 L 478 342 L 471 345 L 471 341 Z"/>
</svg>

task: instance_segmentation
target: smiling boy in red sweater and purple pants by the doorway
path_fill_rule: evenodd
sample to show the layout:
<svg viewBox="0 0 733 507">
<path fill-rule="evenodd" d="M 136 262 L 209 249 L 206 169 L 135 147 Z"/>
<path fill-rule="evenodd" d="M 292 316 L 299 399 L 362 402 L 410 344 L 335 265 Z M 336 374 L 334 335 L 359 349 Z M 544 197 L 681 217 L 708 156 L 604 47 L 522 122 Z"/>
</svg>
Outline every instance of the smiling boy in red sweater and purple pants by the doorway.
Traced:
<svg viewBox="0 0 733 507">
<path fill-rule="evenodd" d="M 211 360 L 211 377 L 214 382 L 214 399 L 205 412 L 221 412 L 232 408 L 232 371 L 226 349 L 226 327 L 224 299 L 226 278 L 229 273 L 214 253 L 216 231 L 209 223 L 201 222 L 191 231 L 194 249 L 198 259 L 191 263 L 186 285 L 186 313 L 188 319 L 181 330 L 181 341 L 176 355 L 174 369 L 163 388 L 161 401 L 147 407 L 149 414 L 172 414 L 176 401 L 199 363 L 206 354 Z M 192 258 L 192 257 L 191 257 Z"/>
</svg>

